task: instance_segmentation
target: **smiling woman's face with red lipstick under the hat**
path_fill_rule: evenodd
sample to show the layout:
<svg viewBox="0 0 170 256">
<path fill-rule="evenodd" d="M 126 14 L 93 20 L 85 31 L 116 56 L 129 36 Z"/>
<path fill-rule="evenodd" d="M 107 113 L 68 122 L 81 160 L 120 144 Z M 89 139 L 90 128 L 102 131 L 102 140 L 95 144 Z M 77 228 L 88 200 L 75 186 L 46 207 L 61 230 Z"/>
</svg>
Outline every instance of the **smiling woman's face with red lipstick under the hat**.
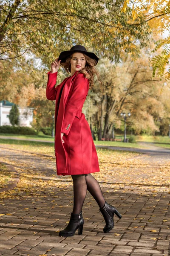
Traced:
<svg viewBox="0 0 170 256">
<path fill-rule="evenodd" d="M 85 67 L 85 62 L 85 56 L 81 52 L 75 52 L 70 61 L 71 73 L 80 71 L 83 67 Z"/>
</svg>

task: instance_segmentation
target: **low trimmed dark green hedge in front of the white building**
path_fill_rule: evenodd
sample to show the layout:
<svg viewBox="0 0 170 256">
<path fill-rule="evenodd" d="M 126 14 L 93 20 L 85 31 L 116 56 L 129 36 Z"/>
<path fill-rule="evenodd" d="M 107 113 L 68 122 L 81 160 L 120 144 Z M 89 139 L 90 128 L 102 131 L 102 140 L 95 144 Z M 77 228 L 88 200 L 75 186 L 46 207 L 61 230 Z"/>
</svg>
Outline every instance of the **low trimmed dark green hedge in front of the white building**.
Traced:
<svg viewBox="0 0 170 256">
<path fill-rule="evenodd" d="M 36 131 L 30 127 L 17 126 L 13 127 L 10 125 L 0 126 L 0 133 L 5 134 L 22 134 L 22 135 L 36 135 Z"/>
</svg>

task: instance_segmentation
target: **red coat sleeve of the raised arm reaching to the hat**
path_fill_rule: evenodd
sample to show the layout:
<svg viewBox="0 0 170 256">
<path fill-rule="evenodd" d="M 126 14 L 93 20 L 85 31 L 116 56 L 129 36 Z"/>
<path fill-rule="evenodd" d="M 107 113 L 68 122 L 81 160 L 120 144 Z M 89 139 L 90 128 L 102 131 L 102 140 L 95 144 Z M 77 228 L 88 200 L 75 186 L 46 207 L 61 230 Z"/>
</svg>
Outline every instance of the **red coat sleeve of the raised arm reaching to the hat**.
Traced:
<svg viewBox="0 0 170 256">
<path fill-rule="evenodd" d="M 55 100 L 56 99 L 56 94 L 57 94 L 57 89 L 58 87 L 55 87 L 56 81 L 57 81 L 57 73 L 52 73 L 49 71 L 48 74 L 48 81 L 47 81 L 47 87 L 46 87 L 46 97 L 49 100 Z"/>
</svg>

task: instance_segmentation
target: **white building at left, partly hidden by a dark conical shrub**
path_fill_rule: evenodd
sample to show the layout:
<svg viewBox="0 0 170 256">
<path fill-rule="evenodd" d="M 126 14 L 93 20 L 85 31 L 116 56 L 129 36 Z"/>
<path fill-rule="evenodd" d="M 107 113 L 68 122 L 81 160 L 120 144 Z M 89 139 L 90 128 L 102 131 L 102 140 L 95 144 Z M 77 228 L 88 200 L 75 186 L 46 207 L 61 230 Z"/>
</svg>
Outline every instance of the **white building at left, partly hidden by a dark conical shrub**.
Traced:
<svg viewBox="0 0 170 256">
<path fill-rule="evenodd" d="M 9 121 L 9 111 L 14 103 L 8 102 L 7 100 L 0 101 L 0 126 L 11 125 Z M 33 110 L 34 108 L 20 108 L 19 126 L 31 127 L 30 122 L 33 121 Z"/>
</svg>

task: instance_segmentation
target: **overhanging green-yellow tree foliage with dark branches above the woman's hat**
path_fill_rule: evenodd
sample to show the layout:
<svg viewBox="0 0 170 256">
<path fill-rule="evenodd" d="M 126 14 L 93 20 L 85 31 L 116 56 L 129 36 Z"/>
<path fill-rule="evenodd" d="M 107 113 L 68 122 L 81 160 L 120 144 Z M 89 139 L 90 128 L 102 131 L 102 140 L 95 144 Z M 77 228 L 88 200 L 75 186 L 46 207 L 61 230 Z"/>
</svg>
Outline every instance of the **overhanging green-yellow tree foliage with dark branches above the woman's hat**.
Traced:
<svg viewBox="0 0 170 256">
<path fill-rule="evenodd" d="M 0 59 L 32 52 L 49 64 L 73 44 L 92 47 L 115 60 L 122 50 L 139 52 L 146 45 L 148 25 L 140 15 L 136 26 L 132 8 L 122 12 L 124 4 L 125 0 L 2 1 Z"/>
</svg>

